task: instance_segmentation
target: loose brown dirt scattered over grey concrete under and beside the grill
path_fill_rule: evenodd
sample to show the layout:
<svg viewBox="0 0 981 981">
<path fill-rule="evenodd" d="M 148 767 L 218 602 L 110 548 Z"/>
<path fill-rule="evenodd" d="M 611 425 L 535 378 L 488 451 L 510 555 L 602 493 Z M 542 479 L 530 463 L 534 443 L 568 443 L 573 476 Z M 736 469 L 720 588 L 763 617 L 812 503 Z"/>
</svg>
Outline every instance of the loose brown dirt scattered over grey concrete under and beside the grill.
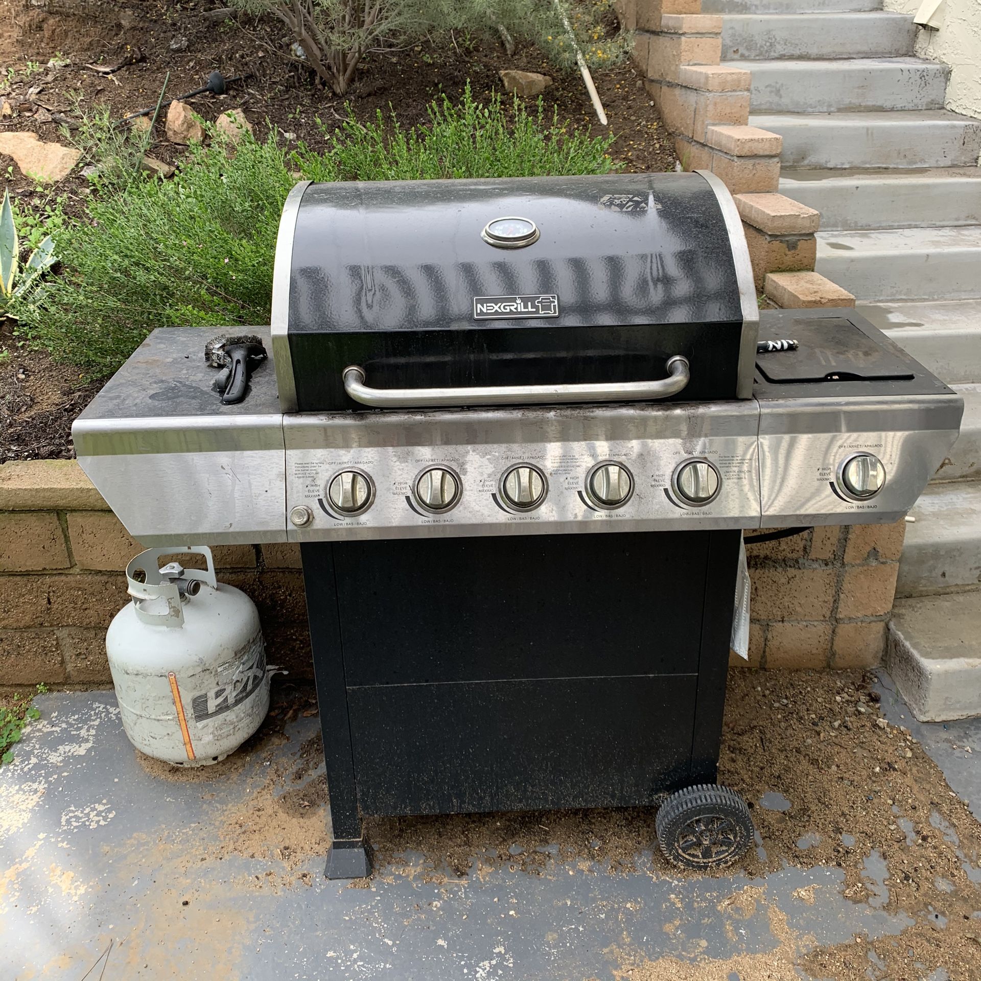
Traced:
<svg viewBox="0 0 981 981">
<path fill-rule="evenodd" d="M 740 981 L 796 981 L 797 968 L 805 977 L 862 979 L 870 953 L 884 972 L 876 976 L 891 981 L 916 981 L 938 967 L 954 981 L 981 977 L 981 825 L 919 744 L 882 717 L 872 680 L 860 672 L 730 671 L 719 780 L 749 801 L 763 848 L 750 849 L 718 876 L 739 871 L 757 877 L 788 865 L 834 866 L 844 870 L 845 896 L 857 907 L 870 897 L 863 861 L 878 852 L 888 866 L 883 885 L 889 897 L 881 908 L 904 911 L 914 924 L 896 938 L 870 943 L 859 933 L 852 943 L 817 947 L 802 958 L 798 938 L 790 935 L 775 952 L 725 964 L 672 958 L 651 963 L 624 950 L 619 979 L 716 981 L 735 973 Z M 201 782 L 207 794 L 207 784 L 241 767 L 245 753 L 268 752 L 285 739 L 288 720 L 315 711 L 312 694 L 293 689 L 281 696 L 244 752 L 226 762 L 185 771 L 144 759 L 144 767 L 162 779 Z M 320 757 L 319 739 L 309 740 L 298 767 L 280 772 L 271 766 L 265 785 L 247 803 L 221 813 L 223 849 L 276 858 L 295 869 L 291 878 L 272 871 L 256 876 L 257 889 L 310 885 L 310 873 L 298 866 L 327 851 L 326 782 L 323 776 L 308 779 Z M 761 806 L 764 795 L 774 794 L 789 802 L 787 809 Z M 371 879 L 352 882 L 352 889 L 384 889 L 398 876 L 446 883 L 481 877 L 502 865 L 549 875 L 556 863 L 583 869 L 595 863 L 617 875 L 634 870 L 638 853 L 653 845 L 654 811 L 372 818 L 365 830 L 374 871 Z M 557 845 L 558 852 L 536 851 L 546 845 Z M 424 856 L 422 871 L 405 852 Z M 185 860 L 200 857 L 188 853 Z M 655 874 L 657 869 L 674 878 L 694 874 L 670 867 L 659 855 L 654 862 Z M 750 886 L 740 894 L 747 917 L 763 902 L 762 892 Z M 782 938 L 780 924 L 771 925 Z"/>
</svg>

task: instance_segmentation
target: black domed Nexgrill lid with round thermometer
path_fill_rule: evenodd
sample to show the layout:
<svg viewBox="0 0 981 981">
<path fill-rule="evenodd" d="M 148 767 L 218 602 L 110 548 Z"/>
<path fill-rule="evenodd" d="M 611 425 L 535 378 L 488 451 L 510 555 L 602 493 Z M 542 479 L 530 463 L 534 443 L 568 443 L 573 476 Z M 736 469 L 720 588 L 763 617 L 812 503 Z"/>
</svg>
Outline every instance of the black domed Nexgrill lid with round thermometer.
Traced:
<svg viewBox="0 0 981 981">
<path fill-rule="evenodd" d="M 350 364 L 378 387 L 578 384 L 660 378 L 672 354 L 692 361 L 678 398 L 736 397 L 747 286 L 741 295 L 715 184 L 638 174 L 296 188 L 273 305 L 285 407 L 357 408 L 340 380 Z"/>
</svg>

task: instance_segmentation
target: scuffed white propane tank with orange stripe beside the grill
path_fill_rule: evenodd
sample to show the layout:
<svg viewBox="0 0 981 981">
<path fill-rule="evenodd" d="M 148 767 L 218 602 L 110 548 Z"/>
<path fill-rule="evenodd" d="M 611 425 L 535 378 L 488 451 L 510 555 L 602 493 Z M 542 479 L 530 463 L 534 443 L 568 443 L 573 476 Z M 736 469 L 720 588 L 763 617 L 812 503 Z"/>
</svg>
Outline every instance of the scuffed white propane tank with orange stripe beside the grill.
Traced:
<svg viewBox="0 0 981 981">
<path fill-rule="evenodd" d="M 207 571 L 161 555 L 203 555 Z M 211 549 L 149 548 L 126 569 L 132 602 L 106 634 L 109 668 L 129 742 L 178 766 L 217 763 L 269 711 L 266 647 L 255 603 L 219 584 Z"/>
</svg>

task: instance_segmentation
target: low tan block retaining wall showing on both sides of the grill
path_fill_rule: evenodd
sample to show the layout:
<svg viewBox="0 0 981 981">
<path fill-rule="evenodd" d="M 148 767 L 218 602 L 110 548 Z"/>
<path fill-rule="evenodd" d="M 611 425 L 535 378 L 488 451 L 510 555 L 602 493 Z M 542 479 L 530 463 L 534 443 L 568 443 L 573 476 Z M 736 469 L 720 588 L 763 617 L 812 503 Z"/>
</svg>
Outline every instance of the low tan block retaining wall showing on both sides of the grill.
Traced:
<svg viewBox="0 0 981 981">
<path fill-rule="evenodd" d="M 750 663 L 877 664 L 903 535 L 900 522 L 749 545 Z M 75 461 L 0 466 L 0 685 L 107 684 L 105 632 L 128 601 L 122 570 L 138 551 Z M 214 555 L 222 582 L 258 605 L 270 662 L 311 678 L 298 547 L 218 545 Z"/>
</svg>

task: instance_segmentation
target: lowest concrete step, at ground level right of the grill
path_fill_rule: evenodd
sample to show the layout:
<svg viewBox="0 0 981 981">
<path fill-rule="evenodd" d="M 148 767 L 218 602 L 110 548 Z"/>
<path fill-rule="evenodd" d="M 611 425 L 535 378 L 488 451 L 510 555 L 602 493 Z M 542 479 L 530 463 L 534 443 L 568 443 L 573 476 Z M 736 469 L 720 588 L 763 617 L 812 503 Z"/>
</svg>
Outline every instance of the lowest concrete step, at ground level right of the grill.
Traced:
<svg viewBox="0 0 981 981">
<path fill-rule="evenodd" d="M 920 722 L 981 715 L 981 592 L 897 602 L 886 670 Z"/>
</svg>

